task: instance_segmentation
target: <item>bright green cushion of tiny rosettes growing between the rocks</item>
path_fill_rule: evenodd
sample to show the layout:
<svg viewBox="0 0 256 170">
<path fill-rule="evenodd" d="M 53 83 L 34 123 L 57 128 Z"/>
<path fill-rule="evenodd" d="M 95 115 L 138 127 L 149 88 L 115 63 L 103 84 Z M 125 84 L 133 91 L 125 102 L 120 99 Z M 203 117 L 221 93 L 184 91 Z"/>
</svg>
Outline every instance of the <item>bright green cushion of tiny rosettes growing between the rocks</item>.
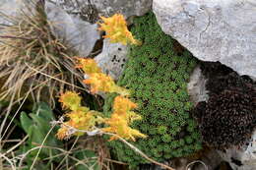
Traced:
<svg viewBox="0 0 256 170">
<path fill-rule="evenodd" d="M 187 51 L 179 56 L 173 47 L 174 40 L 164 34 L 153 13 L 134 21 L 132 32 L 143 41 L 132 46 L 130 58 L 119 85 L 132 91 L 139 104 L 137 112 L 143 117 L 133 128 L 147 134 L 147 139 L 133 142 L 150 157 L 163 161 L 189 155 L 201 149 L 201 136 L 196 122 L 190 117 L 187 81 L 197 61 Z M 104 110 L 110 111 L 111 98 Z M 135 167 L 147 163 L 122 142 L 110 142 L 121 161 Z"/>
</svg>

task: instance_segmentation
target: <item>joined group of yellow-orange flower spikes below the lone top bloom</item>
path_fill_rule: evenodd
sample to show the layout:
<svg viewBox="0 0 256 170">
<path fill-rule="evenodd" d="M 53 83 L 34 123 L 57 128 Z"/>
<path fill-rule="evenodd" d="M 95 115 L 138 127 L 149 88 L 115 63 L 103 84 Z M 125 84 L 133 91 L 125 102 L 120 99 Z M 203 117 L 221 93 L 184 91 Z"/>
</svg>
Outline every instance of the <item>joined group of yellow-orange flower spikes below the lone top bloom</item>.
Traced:
<svg viewBox="0 0 256 170">
<path fill-rule="evenodd" d="M 137 104 L 125 97 L 129 95 L 129 91 L 121 86 L 115 85 L 110 77 L 101 73 L 101 70 L 97 67 L 93 59 L 80 58 L 78 60 L 78 67 L 89 76 L 89 79 L 84 82 L 91 85 L 91 91 L 93 93 L 104 91 L 117 92 L 121 95 L 116 96 L 114 99 L 111 117 L 102 118 L 99 112 L 81 105 L 82 98 L 78 93 L 67 91 L 62 94 L 59 101 L 62 103 L 63 108 L 69 109 L 71 112 L 66 114 L 68 121 L 64 122 L 58 130 L 58 139 L 63 140 L 68 138 L 69 134 L 72 134 L 69 132 L 71 127 L 77 130 L 93 131 L 96 125 L 102 123 L 109 126 L 101 129 L 102 132 L 116 134 L 121 138 L 126 140 L 131 139 L 133 141 L 135 141 L 135 138 L 146 138 L 139 131 L 129 127 L 134 120 L 141 119 L 139 115 L 131 111 L 137 108 Z M 75 133 L 74 135 L 80 136 L 84 135 L 84 133 Z M 117 140 L 117 138 L 111 137 L 110 140 Z"/>
</svg>

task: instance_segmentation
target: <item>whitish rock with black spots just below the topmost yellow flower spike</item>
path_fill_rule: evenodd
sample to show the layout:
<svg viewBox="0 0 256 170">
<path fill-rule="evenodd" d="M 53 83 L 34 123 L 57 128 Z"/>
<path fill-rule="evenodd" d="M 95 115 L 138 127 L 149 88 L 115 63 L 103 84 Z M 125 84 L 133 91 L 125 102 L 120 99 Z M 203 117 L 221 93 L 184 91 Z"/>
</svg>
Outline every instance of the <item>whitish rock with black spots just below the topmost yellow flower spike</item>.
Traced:
<svg viewBox="0 0 256 170">
<path fill-rule="evenodd" d="M 110 43 L 103 40 L 103 49 L 95 58 L 102 71 L 114 80 L 118 80 L 124 70 L 127 61 L 127 46 L 120 43 Z"/>
</svg>

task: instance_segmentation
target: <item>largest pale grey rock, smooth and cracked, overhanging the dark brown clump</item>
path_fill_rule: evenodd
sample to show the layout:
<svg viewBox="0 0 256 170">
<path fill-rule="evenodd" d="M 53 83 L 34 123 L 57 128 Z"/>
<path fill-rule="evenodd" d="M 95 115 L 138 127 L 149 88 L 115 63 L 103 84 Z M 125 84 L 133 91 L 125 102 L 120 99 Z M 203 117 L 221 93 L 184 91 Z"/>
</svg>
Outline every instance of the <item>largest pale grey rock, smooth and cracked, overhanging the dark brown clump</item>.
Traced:
<svg viewBox="0 0 256 170">
<path fill-rule="evenodd" d="M 255 0 L 153 0 L 162 30 L 203 61 L 256 76 Z"/>
</svg>

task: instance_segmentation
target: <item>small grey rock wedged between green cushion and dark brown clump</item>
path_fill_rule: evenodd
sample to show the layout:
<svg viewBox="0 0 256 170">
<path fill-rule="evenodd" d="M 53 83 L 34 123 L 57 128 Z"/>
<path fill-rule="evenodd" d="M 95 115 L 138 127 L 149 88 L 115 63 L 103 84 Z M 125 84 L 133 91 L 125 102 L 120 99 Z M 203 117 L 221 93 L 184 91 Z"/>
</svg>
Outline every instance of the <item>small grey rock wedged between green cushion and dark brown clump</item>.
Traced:
<svg viewBox="0 0 256 170">
<path fill-rule="evenodd" d="M 190 75 L 190 80 L 187 85 L 187 90 L 191 101 L 196 105 L 200 101 L 207 101 L 209 96 L 206 90 L 206 79 L 202 74 L 200 66 L 197 66 Z"/>
</svg>

